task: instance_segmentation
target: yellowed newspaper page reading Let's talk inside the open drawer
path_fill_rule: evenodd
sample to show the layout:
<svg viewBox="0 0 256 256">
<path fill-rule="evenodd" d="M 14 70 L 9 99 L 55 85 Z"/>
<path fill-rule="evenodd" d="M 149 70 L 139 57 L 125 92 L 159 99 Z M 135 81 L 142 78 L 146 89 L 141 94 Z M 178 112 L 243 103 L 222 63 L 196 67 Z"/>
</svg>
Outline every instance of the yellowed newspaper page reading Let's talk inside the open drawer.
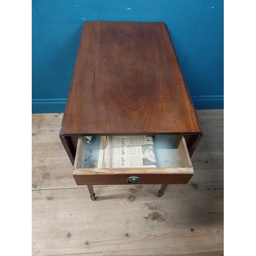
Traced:
<svg viewBox="0 0 256 256">
<path fill-rule="evenodd" d="M 156 167 L 152 136 L 108 136 L 105 167 Z"/>
</svg>

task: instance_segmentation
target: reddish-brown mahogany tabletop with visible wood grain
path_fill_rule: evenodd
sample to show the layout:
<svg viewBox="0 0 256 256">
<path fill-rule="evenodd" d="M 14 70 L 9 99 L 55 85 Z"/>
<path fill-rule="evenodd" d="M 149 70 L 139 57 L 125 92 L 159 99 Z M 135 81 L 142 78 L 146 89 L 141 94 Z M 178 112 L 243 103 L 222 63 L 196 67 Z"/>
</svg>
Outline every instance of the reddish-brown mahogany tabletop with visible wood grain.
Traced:
<svg viewBox="0 0 256 256">
<path fill-rule="evenodd" d="M 86 22 L 60 135 L 202 134 L 164 23 Z"/>
</svg>

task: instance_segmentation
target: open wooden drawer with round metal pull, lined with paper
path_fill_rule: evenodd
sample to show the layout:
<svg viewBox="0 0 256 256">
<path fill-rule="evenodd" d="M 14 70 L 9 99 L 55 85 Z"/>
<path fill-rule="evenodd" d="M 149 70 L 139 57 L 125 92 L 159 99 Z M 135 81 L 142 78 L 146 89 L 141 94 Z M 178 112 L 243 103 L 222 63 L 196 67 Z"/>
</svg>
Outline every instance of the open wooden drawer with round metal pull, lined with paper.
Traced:
<svg viewBox="0 0 256 256">
<path fill-rule="evenodd" d="M 100 137 L 100 136 L 99 136 Z M 97 168 L 93 147 L 78 138 L 73 177 L 77 185 L 186 184 L 194 175 L 184 136 L 156 135 L 154 150 L 157 167 Z M 86 158 L 86 159 L 84 159 Z M 91 160 L 84 167 L 84 161 Z M 134 179 L 133 177 L 136 177 Z"/>
</svg>

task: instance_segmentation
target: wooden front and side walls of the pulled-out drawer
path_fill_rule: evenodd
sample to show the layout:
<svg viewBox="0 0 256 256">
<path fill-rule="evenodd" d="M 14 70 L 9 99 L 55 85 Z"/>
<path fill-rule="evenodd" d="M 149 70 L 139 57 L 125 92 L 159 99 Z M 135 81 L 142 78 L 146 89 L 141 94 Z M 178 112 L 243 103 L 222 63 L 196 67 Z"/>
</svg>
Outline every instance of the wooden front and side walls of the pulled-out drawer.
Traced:
<svg viewBox="0 0 256 256">
<path fill-rule="evenodd" d="M 84 155 L 83 137 L 79 137 L 74 163 L 73 177 L 77 185 L 122 185 L 129 177 L 138 177 L 132 184 L 186 184 L 194 175 L 183 136 L 176 136 L 180 166 L 140 168 L 81 168 Z"/>
</svg>

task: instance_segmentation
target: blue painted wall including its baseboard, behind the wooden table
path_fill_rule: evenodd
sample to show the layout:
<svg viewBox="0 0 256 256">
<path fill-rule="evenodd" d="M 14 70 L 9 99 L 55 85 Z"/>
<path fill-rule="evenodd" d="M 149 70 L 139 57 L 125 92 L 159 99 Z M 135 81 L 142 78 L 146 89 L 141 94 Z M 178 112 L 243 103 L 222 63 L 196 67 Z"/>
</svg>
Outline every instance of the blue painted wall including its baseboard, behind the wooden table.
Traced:
<svg viewBox="0 0 256 256">
<path fill-rule="evenodd" d="M 32 112 L 63 112 L 86 20 L 165 22 L 196 109 L 223 109 L 223 1 L 32 0 Z"/>
</svg>

